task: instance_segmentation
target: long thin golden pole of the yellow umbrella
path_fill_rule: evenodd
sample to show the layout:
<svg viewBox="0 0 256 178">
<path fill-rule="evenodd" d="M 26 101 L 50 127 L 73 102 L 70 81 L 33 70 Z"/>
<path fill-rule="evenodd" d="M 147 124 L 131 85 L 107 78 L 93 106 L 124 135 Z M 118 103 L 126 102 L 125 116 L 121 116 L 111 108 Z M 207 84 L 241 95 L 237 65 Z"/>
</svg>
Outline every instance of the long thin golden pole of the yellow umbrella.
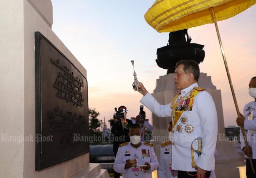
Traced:
<svg viewBox="0 0 256 178">
<path fill-rule="evenodd" d="M 230 89 L 231 89 L 231 92 L 232 92 L 234 104 L 236 106 L 237 116 L 240 117 L 240 112 L 239 112 L 239 108 L 238 108 L 238 105 L 237 105 L 236 95 L 234 93 L 234 88 L 233 88 L 232 80 L 231 80 L 231 77 L 230 77 L 230 74 L 229 74 L 229 67 L 227 66 L 227 60 L 226 60 L 226 56 L 225 56 L 225 53 L 224 53 L 223 45 L 222 45 L 222 42 L 221 42 L 219 27 L 218 27 L 218 24 L 217 24 L 217 21 L 216 21 L 215 13 L 214 13 L 213 7 L 210 7 L 209 9 L 210 9 L 211 17 L 213 18 L 214 25 L 215 25 L 216 32 L 217 32 L 217 36 L 218 36 L 218 39 L 219 39 L 221 54 L 222 54 L 222 57 L 223 57 L 223 60 L 224 60 L 224 64 L 225 64 L 225 67 L 226 67 L 227 78 L 229 79 L 229 85 L 230 85 Z M 244 139 L 246 148 L 248 149 L 249 145 L 248 145 L 248 142 L 247 142 L 247 139 L 246 139 L 244 127 L 242 126 L 241 129 L 242 129 L 243 139 Z M 249 160 L 250 160 L 250 165 L 252 167 L 253 174 L 255 174 L 255 170 L 253 168 L 252 157 L 251 156 L 249 157 Z"/>
</svg>

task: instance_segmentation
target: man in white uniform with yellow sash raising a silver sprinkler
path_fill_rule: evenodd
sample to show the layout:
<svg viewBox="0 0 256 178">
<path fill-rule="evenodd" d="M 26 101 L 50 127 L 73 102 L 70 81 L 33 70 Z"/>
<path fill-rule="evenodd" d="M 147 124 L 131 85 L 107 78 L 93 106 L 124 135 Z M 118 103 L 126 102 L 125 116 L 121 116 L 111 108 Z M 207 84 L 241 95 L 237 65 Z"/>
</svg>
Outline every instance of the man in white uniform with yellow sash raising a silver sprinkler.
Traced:
<svg viewBox="0 0 256 178">
<path fill-rule="evenodd" d="M 141 103 L 158 117 L 171 116 L 173 123 L 172 168 L 179 178 L 210 177 L 214 170 L 217 141 L 217 112 L 211 95 L 198 88 L 199 66 L 193 60 L 181 60 L 175 66 L 174 82 L 181 92 L 167 105 L 160 105 L 143 84 Z M 196 145 L 198 143 L 198 149 Z M 195 150 L 195 149 L 197 150 Z"/>
</svg>

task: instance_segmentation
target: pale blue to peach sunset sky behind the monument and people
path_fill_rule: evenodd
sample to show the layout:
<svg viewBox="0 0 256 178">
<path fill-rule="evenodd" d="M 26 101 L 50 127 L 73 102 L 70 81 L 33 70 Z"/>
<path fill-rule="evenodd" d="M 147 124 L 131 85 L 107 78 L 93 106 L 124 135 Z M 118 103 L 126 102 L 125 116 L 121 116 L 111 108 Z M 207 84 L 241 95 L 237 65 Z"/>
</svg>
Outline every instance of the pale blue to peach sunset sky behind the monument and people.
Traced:
<svg viewBox="0 0 256 178">
<path fill-rule="evenodd" d="M 157 48 L 166 46 L 168 33 L 150 27 L 144 14 L 154 0 L 52 0 L 52 30 L 87 70 L 89 108 L 99 119 L 112 118 L 114 108 L 129 109 L 135 117 L 141 94 L 134 92 L 131 60 L 138 80 L 152 93 L 159 76 L 166 74 L 155 63 Z M 240 112 L 253 100 L 248 84 L 256 76 L 256 5 L 218 22 Z M 214 24 L 188 29 L 191 43 L 204 45 L 206 56 L 200 72 L 211 76 L 221 90 L 224 124 L 236 125 L 236 110 L 221 56 Z M 147 109 L 147 119 L 152 114 Z"/>
</svg>

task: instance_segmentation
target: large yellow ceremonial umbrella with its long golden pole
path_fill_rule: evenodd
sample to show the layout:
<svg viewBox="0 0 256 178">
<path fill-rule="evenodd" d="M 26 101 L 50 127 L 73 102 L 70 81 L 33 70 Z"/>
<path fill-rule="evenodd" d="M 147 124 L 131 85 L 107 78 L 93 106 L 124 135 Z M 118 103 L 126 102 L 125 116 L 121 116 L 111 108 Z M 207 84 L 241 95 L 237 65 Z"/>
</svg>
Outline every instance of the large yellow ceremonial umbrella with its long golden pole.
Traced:
<svg viewBox="0 0 256 178">
<path fill-rule="evenodd" d="M 147 23 L 160 33 L 174 32 L 207 23 L 214 23 L 238 117 L 240 116 L 240 112 L 234 94 L 217 21 L 233 17 L 255 3 L 256 0 L 156 0 L 144 16 Z M 243 137 L 246 138 L 244 128 L 241 127 L 241 129 Z M 245 144 L 246 148 L 248 148 L 246 139 Z M 252 158 L 250 157 L 249 159 L 253 173 L 255 174 Z"/>
</svg>

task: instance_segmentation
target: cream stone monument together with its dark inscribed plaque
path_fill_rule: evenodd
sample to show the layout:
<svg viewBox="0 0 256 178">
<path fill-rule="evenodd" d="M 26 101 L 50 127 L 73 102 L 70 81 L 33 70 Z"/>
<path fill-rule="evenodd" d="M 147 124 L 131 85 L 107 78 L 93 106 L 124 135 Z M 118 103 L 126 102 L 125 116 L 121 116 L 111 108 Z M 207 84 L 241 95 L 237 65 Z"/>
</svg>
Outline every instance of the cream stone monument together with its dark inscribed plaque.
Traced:
<svg viewBox="0 0 256 178">
<path fill-rule="evenodd" d="M 0 177 L 108 178 L 89 163 L 88 144 L 70 141 L 73 132 L 87 134 L 87 76 L 51 29 L 51 1 L 2 0 L 0 7 Z M 37 53 L 39 36 L 46 45 Z"/>
</svg>

